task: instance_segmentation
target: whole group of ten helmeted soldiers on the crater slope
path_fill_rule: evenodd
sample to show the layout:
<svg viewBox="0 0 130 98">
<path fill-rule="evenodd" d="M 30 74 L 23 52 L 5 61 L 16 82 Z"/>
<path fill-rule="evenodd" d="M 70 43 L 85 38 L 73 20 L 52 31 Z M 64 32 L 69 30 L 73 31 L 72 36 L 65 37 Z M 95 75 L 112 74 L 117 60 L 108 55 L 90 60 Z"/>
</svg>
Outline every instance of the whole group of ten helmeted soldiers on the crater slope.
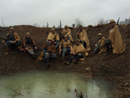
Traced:
<svg viewBox="0 0 130 98">
<path fill-rule="evenodd" d="M 113 52 L 113 54 L 121 54 L 125 51 L 125 45 L 123 44 L 123 40 L 116 22 L 114 20 L 110 20 L 110 25 L 111 30 L 109 31 L 108 39 L 105 39 L 102 33 L 99 33 L 99 41 L 95 44 L 95 49 L 91 56 L 102 52 L 106 52 L 106 55 L 110 52 Z M 61 54 L 62 60 L 66 64 L 70 64 L 72 61 L 77 64 L 78 60 L 83 60 L 86 56 L 88 56 L 88 52 L 90 51 L 90 43 L 87 32 L 83 29 L 82 25 L 78 26 L 75 41 L 73 40 L 71 30 L 67 25 L 61 32 L 61 36 L 63 38 L 62 40 L 60 40 L 59 34 L 56 32 L 55 28 L 51 29 L 45 44 L 41 48 L 42 52 L 36 60 L 37 62 L 44 60 L 46 61 L 48 67 L 50 65 L 50 59 L 57 58 L 56 50 L 58 48 L 59 54 Z M 73 45 L 72 42 L 75 44 Z M 37 50 L 36 42 L 32 37 L 30 37 L 29 32 L 26 33 L 26 36 L 21 42 L 19 35 L 15 32 L 13 27 L 10 28 L 10 32 L 6 35 L 3 43 L 6 46 L 6 51 L 9 51 L 11 48 L 16 48 L 20 51 L 24 51 L 35 56 L 35 51 Z M 65 56 L 67 54 L 72 55 L 69 58 L 69 61 L 65 61 Z"/>
</svg>

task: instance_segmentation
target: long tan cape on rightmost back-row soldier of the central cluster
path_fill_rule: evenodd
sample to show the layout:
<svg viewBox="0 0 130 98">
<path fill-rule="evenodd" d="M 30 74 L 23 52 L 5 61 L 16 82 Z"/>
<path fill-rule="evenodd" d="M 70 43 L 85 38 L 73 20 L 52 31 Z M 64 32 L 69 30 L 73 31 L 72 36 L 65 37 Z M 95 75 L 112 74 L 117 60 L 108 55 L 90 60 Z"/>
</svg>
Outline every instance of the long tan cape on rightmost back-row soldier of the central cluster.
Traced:
<svg viewBox="0 0 130 98">
<path fill-rule="evenodd" d="M 79 39 L 80 41 L 83 40 L 87 45 L 87 51 L 90 50 L 90 44 L 86 30 L 83 29 L 82 32 L 77 34 L 76 38 Z"/>
</svg>

